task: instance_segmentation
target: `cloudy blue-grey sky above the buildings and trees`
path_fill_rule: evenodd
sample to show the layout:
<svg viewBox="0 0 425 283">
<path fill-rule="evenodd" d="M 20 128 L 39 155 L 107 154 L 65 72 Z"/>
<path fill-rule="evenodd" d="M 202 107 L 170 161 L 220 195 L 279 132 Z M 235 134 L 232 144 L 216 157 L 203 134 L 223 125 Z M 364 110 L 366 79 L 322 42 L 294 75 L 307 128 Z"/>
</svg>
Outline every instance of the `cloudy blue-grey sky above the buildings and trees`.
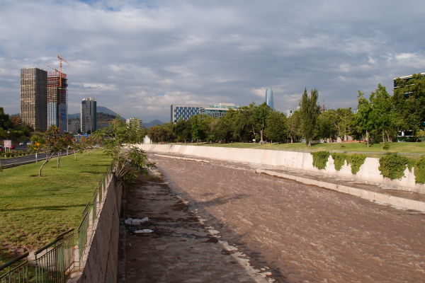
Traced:
<svg viewBox="0 0 425 283">
<path fill-rule="evenodd" d="M 124 117 L 170 119 L 172 103 L 296 108 L 304 88 L 327 108 L 425 71 L 421 0 L 0 0 L 0 107 L 19 112 L 20 69 L 68 74 L 69 113 L 84 97 Z"/>
</svg>

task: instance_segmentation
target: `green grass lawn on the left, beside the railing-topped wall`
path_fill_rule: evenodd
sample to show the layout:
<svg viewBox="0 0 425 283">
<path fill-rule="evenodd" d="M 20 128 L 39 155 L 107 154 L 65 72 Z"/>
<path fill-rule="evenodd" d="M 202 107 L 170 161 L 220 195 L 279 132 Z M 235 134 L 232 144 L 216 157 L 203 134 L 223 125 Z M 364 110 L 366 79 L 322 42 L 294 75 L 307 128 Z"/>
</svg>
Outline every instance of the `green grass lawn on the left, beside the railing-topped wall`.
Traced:
<svg viewBox="0 0 425 283">
<path fill-rule="evenodd" d="M 81 212 L 91 200 L 111 158 L 98 150 L 62 156 L 46 164 L 32 163 L 0 172 L 0 263 L 23 249 L 41 248 L 60 233 L 79 226 Z"/>
</svg>

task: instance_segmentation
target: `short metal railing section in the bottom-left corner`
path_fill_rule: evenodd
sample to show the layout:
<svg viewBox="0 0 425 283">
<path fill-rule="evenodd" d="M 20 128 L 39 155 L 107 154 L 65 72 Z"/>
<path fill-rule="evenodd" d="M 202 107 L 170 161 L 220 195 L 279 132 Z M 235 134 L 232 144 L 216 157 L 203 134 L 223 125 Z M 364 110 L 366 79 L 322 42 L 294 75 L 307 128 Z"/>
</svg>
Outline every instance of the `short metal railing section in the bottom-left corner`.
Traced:
<svg viewBox="0 0 425 283">
<path fill-rule="evenodd" d="M 28 255 L 24 253 L 0 266 L 0 283 L 29 282 Z"/>
</svg>

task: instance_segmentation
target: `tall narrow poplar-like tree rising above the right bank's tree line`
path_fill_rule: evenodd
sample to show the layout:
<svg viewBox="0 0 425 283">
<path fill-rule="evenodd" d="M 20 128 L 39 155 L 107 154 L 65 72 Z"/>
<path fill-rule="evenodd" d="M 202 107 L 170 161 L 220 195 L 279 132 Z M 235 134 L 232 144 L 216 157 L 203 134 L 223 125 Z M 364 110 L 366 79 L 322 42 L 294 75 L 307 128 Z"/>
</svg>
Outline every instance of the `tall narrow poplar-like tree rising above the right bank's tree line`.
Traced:
<svg viewBox="0 0 425 283">
<path fill-rule="evenodd" d="M 312 146 L 317 117 L 319 117 L 320 113 L 319 105 L 317 105 L 318 97 L 317 89 L 312 89 L 310 96 L 307 95 L 307 89 L 304 89 L 300 102 L 301 132 L 307 146 Z"/>
</svg>

